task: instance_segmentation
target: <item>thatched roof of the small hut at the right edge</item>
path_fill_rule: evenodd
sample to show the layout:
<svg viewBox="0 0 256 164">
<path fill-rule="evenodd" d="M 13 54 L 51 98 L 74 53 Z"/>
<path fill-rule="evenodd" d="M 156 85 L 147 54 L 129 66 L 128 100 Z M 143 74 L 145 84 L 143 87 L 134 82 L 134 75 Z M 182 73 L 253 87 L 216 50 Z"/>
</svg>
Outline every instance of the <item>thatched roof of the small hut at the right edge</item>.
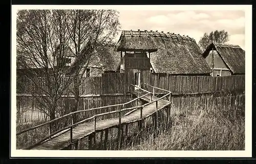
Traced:
<svg viewBox="0 0 256 164">
<path fill-rule="evenodd" d="M 211 43 L 203 57 L 208 56 L 212 49 L 217 51 L 233 74 L 245 74 L 245 51 L 239 45 Z"/>
</svg>

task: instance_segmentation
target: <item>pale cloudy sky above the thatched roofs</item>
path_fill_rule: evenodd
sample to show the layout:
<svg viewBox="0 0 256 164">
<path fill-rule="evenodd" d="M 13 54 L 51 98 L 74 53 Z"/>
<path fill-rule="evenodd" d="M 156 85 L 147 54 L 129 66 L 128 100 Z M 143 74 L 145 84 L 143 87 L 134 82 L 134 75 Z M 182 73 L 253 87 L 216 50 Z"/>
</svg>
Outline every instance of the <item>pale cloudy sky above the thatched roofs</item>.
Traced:
<svg viewBox="0 0 256 164">
<path fill-rule="evenodd" d="M 188 35 L 197 43 L 203 34 L 225 30 L 229 44 L 245 46 L 245 13 L 241 10 L 127 11 L 119 10 L 121 30 L 153 30 Z"/>
</svg>

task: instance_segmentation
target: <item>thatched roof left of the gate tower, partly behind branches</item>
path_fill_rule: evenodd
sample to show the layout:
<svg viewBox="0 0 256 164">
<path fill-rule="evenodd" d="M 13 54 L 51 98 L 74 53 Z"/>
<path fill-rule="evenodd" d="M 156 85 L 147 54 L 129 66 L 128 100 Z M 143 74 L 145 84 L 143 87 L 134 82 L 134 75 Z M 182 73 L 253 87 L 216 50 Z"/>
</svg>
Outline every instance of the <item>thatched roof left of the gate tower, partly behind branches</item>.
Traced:
<svg viewBox="0 0 256 164">
<path fill-rule="evenodd" d="M 91 56 L 90 67 L 101 67 L 103 71 L 117 71 L 120 64 L 120 53 L 114 51 L 114 45 L 104 45 Z"/>
</svg>

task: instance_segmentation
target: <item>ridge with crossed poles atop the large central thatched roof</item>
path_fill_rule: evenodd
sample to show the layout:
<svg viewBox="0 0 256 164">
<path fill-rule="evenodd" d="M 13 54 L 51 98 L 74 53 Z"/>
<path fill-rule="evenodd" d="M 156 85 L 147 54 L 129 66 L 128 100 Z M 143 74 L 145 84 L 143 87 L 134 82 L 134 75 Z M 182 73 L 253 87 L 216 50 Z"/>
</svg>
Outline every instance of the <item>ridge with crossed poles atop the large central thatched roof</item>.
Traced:
<svg viewBox="0 0 256 164">
<path fill-rule="evenodd" d="M 138 34 L 136 34 L 138 33 Z M 123 36 L 127 36 L 127 35 L 130 35 L 130 36 L 139 36 L 139 37 L 143 37 L 143 36 L 154 36 L 154 37 L 170 37 L 170 38 L 177 38 L 177 39 L 182 39 L 182 40 L 192 40 L 192 41 L 196 41 L 194 38 L 191 38 L 189 37 L 188 35 L 180 35 L 180 34 L 175 34 L 175 33 L 170 33 L 170 32 L 167 32 L 167 33 L 164 33 L 163 31 L 159 32 L 158 30 L 156 31 L 150 31 L 148 32 L 147 30 L 138 30 L 138 31 L 135 31 L 135 30 L 122 30 L 122 35 Z"/>
</svg>

